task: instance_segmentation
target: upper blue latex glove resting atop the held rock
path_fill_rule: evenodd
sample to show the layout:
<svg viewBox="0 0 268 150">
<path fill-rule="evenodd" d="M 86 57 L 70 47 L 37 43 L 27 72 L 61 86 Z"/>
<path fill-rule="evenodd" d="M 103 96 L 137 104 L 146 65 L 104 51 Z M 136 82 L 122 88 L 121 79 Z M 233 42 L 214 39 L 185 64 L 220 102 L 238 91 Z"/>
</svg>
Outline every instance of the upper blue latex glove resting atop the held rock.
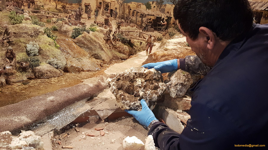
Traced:
<svg viewBox="0 0 268 150">
<path fill-rule="evenodd" d="M 178 62 L 177 62 L 177 59 L 173 59 L 173 60 L 167 60 L 167 61 L 162 61 L 158 63 L 147 63 L 141 67 L 148 68 L 148 69 L 155 68 L 155 70 L 158 70 L 161 73 L 167 73 L 167 72 L 177 70 Z"/>
</svg>

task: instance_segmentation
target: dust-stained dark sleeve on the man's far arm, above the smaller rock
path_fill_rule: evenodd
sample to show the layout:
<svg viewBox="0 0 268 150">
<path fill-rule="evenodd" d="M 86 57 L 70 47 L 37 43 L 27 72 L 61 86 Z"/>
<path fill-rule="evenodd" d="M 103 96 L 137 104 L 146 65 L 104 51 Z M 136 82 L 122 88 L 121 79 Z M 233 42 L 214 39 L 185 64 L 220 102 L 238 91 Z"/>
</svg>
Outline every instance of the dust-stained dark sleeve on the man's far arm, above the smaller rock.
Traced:
<svg viewBox="0 0 268 150">
<path fill-rule="evenodd" d="M 211 67 L 206 66 L 197 55 L 189 55 L 180 59 L 180 69 L 191 74 L 206 75 Z"/>
</svg>

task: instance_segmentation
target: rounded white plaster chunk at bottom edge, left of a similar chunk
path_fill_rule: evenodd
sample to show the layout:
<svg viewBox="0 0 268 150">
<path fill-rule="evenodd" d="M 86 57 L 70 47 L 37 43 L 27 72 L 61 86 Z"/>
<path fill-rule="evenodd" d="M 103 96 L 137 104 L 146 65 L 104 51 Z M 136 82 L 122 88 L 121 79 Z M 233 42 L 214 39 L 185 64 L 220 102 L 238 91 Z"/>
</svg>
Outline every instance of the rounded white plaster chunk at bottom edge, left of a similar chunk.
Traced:
<svg viewBox="0 0 268 150">
<path fill-rule="evenodd" d="M 123 140 L 123 148 L 125 150 L 139 150 L 141 146 L 144 146 L 144 143 L 135 136 L 127 136 Z"/>
</svg>

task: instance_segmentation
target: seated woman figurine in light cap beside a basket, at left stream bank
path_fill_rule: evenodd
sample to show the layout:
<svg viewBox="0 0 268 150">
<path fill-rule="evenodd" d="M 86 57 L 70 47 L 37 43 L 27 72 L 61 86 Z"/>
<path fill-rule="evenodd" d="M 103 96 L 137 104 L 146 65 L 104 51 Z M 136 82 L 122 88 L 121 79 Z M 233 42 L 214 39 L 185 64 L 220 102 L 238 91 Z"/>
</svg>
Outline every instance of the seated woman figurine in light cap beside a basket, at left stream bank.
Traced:
<svg viewBox="0 0 268 150">
<path fill-rule="evenodd" d="M 3 69 L 5 69 L 7 65 L 12 66 L 12 69 L 16 69 L 16 54 L 11 46 L 7 47 L 7 51 L 4 55 L 4 61 Z"/>
</svg>

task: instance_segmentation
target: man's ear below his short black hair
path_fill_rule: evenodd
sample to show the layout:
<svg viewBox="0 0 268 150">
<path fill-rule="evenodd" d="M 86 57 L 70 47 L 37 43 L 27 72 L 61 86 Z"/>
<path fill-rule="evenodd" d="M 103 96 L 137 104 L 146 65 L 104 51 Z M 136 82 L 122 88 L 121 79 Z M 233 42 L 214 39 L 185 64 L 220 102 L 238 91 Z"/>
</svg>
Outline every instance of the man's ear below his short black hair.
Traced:
<svg viewBox="0 0 268 150">
<path fill-rule="evenodd" d="M 216 37 L 215 37 L 214 33 L 206 27 L 200 27 L 199 33 L 200 33 L 200 36 L 207 43 L 207 48 L 210 50 L 214 49 L 214 46 L 216 44 Z"/>
</svg>

